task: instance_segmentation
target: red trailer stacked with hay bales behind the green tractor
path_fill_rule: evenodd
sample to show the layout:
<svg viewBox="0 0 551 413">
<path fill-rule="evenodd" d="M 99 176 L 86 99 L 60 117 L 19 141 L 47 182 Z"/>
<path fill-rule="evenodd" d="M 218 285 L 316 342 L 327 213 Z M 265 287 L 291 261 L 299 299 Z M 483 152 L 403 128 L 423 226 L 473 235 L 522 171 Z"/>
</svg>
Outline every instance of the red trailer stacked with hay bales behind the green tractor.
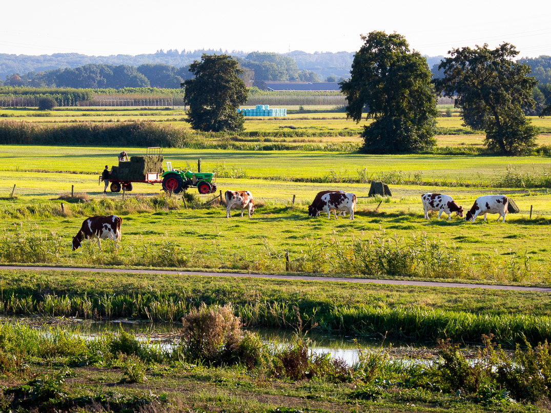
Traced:
<svg viewBox="0 0 551 413">
<path fill-rule="evenodd" d="M 111 192 L 132 191 L 132 183 L 162 183 L 163 160 L 161 148 L 147 148 L 145 156 L 131 156 L 129 161 L 118 161 L 118 166 L 111 167 L 109 182 Z"/>
</svg>

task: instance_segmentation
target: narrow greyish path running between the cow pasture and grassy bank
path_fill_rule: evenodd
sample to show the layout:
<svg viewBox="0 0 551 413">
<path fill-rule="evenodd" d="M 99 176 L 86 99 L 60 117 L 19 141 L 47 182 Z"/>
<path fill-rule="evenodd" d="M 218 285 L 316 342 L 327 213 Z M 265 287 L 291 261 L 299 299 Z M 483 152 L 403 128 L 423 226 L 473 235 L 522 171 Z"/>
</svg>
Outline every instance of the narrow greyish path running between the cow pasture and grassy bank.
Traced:
<svg viewBox="0 0 551 413">
<path fill-rule="evenodd" d="M 0 270 L 24 270 L 24 271 L 87 271 L 95 273 L 125 273 L 125 274 L 169 274 L 169 275 L 202 275 L 213 277 L 239 277 L 239 278 L 266 278 L 278 280 L 302 280 L 302 281 L 339 281 L 355 282 L 357 284 L 390 284 L 413 285 L 425 287 L 449 287 L 449 288 L 482 288 L 490 290 L 515 290 L 551 292 L 545 287 L 523 287 L 516 285 L 490 285 L 490 284 L 466 284 L 464 282 L 434 282 L 434 281 L 408 281 L 408 280 L 376 280 L 369 278 L 343 278 L 343 277 L 318 277 L 308 275 L 278 275 L 278 274 L 239 274 L 239 273 L 207 273 L 202 271 L 167 271 L 167 270 L 139 270 L 124 268 L 74 268 L 74 267 L 30 267 L 25 265 L 0 265 Z"/>
</svg>

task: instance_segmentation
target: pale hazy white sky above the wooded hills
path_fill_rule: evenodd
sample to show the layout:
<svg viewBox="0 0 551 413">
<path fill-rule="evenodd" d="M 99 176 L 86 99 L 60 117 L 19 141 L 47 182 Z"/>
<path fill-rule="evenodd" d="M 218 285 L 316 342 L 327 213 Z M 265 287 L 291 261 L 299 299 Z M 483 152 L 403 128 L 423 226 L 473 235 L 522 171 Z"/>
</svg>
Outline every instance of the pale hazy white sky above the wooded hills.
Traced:
<svg viewBox="0 0 551 413">
<path fill-rule="evenodd" d="M 509 42 L 551 55 L 551 1 L 27 0 L 0 4 L 0 53 L 139 55 L 199 48 L 358 50 L 360 34 L 396 31 L 424 55 Z"/>
</svg>

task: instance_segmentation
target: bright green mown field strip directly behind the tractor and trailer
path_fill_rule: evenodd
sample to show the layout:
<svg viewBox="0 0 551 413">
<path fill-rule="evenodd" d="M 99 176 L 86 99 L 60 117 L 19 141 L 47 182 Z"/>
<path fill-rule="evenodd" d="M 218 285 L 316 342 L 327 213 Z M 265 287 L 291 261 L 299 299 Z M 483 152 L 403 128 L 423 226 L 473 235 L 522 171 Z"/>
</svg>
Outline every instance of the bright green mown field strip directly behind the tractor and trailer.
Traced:
<svg viewBox="0 0 551 413">
<path fill-rule="evenodd" d="M 107 164 L 117 165 L 116 156 L 125 149 L 130 156 L 144 155 L 144 148 L 105 148 L 68 146 L 0 146 L 0 171 L 4 179 L 0 186 L 23 186 L 29 181 L 55 181 L 35 172 L 71 172 L 62 180 L 75 183 L 89 182 L 79 191 L 98 189 L 97 176 Z M 551 169 L 551 160 L 539 156 L 466 156 L 466 155 L 362 155 L 323 153 L 315 151 L 235 151 L 207 149 L 174 149 L 163 151 L 166 161 L 174 167 L 196 169 L 202 159 L 203 171 L 224 172 L 226 176 L 240 176 L 280 181 L 348 182 L 383 176 L 388 183 L 416 180 L 439 186 L 491 186 L 503 176 L 507 167 L 530 173 L 544 173 Z M 28 172 L 25 172 L 28 171 Z M 14 175 L 10 175 L 14 173 Z M 20 173 L 20 174 L 19 174 Z M 82 173 L 91 174 L 82 176 Z M 97 174 L 94 176 L 94 174 Z M 220 175 L 220 174 L 219 174 Z M 35 183 L 34 187 L 40 187 Z M 148 192 L 157 187 L 144 184 Z M 94 187 L 94 189 L 92 188 Z M 70 188 L 70 186 L 69 186 Z M 80 189 L 82 188 L 82 189 Z M 154 189 L 151 189 L 154 188 Z M 65 191 L 65 189 L 60 189 Z M 137 188 L 139 191 L 139 189 Z M 57 192 L 56 192 L 57 193 Z M 291 194 L 292 195 L 292 194 Z"/>
</svg>

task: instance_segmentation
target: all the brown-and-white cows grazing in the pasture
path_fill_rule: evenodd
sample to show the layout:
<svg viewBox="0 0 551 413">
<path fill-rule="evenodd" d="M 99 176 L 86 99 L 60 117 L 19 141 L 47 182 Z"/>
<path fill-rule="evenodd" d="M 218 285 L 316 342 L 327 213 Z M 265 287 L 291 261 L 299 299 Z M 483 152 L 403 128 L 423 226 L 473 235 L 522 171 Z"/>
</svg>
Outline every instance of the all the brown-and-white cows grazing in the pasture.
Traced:
<svg viewBox="0 0 551 413">
<path fill-rule="evenodd" d="M 447 214 L 451 220 L 451 215 L 455 212 L 457 216 L 463 218 L 463 207 L 458 205 L 450 195 L 438 193 L 426 193 L 421 197 L 425 219 L 429 219 L 429 211 L 436 211 L 438 217 L 442 213 Z M 249 218 L 255 212 L 255 200 L 249 191 L 226 191 L 226 218 L 231 218 L 230 209 L 241 209 L 241 216 L 245 209 L 249 211 Z M 488 214 L 499 214 L 498 221 L 507 215 L 509 199 L 505 195 L 484 195 L 478 197 L 471 209 L 464 215 L 466 221 L 474 222 L 478 215 L 484 214 L 484 221 Z M 340 214 L 350 214 L 350 219 L 354 219 L 356 210 L 356 195 L 345 191 L 321 191 L 318 192 L 314 201 L 308 206 L 308 215 L 312 217 L 319 216 L 322 212 L 331 219 L 331 211 L 337 219 L 337 211 Z M 77 235 L 73 237 L 73 251 L 80 247 L 84 238 L 97 238 L 98 246 L 101 247 L 101 240 L 109 238 L 111 240 L 121 239 L 122 218 L 116 215 L 91 216 L 82 223 Z"/>
</svg>

